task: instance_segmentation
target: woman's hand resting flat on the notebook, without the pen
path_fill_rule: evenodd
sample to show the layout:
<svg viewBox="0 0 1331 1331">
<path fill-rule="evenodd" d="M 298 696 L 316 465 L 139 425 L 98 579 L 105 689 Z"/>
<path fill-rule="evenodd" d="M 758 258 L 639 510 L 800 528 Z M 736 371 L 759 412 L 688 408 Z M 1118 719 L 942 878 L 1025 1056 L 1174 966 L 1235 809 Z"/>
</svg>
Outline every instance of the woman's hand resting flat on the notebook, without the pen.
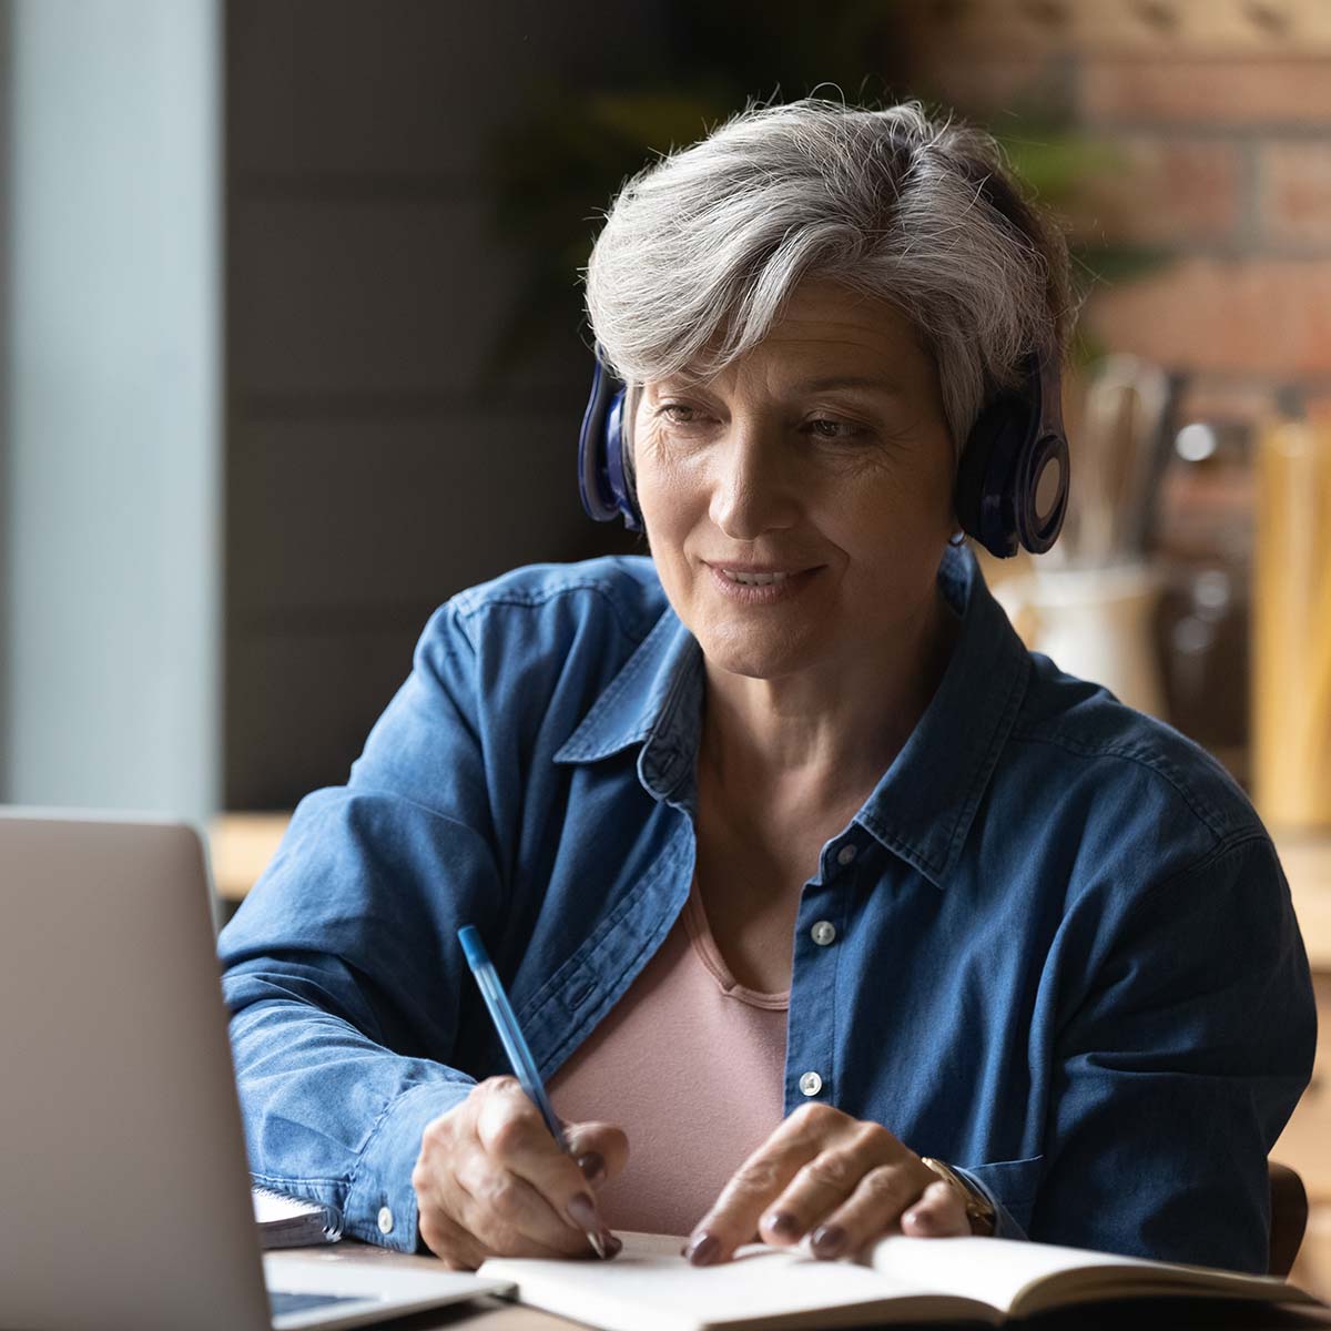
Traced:
<svg viewBox="0 0 1331 1331">
<path fill-rule="evenodd" d="M 727 1262 L 753 1240 L 845 1256 L 888 1233 L 970 1234 L 966 1202 L 878 1123 L 831 1105 L 801 1105 L 725 1185 L 684 1252 Z"/>
</svg>

